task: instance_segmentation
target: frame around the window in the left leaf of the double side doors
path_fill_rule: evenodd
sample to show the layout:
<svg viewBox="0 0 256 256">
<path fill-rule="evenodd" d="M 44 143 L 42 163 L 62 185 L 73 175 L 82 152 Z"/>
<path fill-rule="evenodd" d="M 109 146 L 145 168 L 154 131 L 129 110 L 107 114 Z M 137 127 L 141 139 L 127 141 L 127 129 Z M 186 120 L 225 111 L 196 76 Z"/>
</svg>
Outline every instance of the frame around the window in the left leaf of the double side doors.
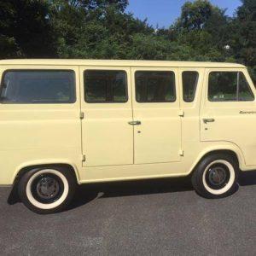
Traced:
<svg viewBox="0 0 256 256">
<path fill-rule="evenodd" d="M 109 71 L 112 71 L 112 72 L 123 72 L 125 73 L 125 96 L 126 96 L 126 100 L 123 101 L 123 102 L 104 102 L 104 101 L 98 101 L 98 102 L 88 102 L 86 100 L 86 85 L 85 85 L 85 73 L 86 72 L 90 72 L 90 71 L 97 71 L 97 72 L 109 72 Z M 88 103 L 88 104 L 125 104 L 127 102 L 129 102 L 129 91 L 128 91 L 128 75 L 127 75 L 127 71 L 126 70 L 123 70 L 123 69 L 84 69 L 83 71 L 83 86 L 84 86 L 84 102 Z"/>
</svg>

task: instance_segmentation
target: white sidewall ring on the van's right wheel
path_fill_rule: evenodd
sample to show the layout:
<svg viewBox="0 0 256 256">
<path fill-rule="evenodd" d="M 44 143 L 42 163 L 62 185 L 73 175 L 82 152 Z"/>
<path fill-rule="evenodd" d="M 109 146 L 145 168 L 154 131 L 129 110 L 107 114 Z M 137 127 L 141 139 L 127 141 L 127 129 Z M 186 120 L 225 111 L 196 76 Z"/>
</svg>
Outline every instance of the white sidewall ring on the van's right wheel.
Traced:
<svg viewBox="0 0 256 256">
<path fill-rule="evenodd" d="M 223 164 L 224 166 L 227 166 L 229 171 L 230 171 L 230 180 L 229 182 L 224 186 L 224 188 L 222 189 L 211 189 L 208 185 L 207 185 L 207 180 L 206 180 L 206 174 L 207 174 L 207 170 L 214 164 Z M 235 182 L 236 179 L 236 172 L 234 167 L 230 164 L 229 161 L 227 160 L 215 160 L 213 161 L 211 164 L 209 164 L 207 166 L 207 168 L 205 169 L 204 173 L 203 173 L 203 177 L 202 177 L 202 182 L 203 185 L 205 187 L 205 189 L 207 189 L 207 191 L 209 193 L 211 193 L 212 195 L 222 195 L 224 193 L 226 193 L 227 191 L 230 190 L 230 188 L 232 187 L 233 183 Z"/>
</svg>

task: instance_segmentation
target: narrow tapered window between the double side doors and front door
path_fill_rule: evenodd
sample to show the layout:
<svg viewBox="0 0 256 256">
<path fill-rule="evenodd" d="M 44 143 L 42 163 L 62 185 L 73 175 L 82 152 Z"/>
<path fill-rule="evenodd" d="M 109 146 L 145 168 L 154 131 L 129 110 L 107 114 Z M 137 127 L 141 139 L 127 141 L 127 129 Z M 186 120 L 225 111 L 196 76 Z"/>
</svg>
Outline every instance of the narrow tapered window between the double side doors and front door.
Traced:
<svg viewBox="0 0 256 256">
<path fill-rule="evenodd" d="M 195 71 L 183 72 L 183 101 L 193 102 L 199 74 Z"/>
</svg>

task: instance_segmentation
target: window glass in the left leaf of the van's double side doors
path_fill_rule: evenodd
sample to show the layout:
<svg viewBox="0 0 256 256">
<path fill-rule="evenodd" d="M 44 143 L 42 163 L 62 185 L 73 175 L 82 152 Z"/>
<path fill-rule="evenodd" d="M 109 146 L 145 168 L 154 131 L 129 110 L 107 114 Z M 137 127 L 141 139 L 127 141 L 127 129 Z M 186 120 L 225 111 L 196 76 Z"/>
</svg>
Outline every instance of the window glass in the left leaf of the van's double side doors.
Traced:
<svg viewBox="0 0 256 256">
<path fill-rule="evenodd" d="M 125 71 L 84 71 L 84 100 L 88 103 L 127 102 Z"/>
</svg>

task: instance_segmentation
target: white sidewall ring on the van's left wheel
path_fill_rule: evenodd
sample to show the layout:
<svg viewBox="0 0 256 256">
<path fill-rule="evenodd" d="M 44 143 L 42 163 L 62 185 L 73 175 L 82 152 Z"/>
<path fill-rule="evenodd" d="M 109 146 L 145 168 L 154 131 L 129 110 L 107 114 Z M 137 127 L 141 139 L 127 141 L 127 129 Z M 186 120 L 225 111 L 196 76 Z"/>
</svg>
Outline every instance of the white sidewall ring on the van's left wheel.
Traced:
<svg viewBox="0 0 256 256">
<path fill-rule="evenodd" d="M 57 201 L 50 203 L 50 204 L 43 204 L 41 202 L 38 202 L 32 196 L 32 191 L 31 191 L 32 182 L 35 180 L 36 177 L 38 177 L 39 175 L 44 174 L 44 173 L 55 174 L 56 176 L 61 178 L 61 181 L 64 185 L 63 194 L 61 195 L 61 197 Z M 61 203 L 66 200 L 68 191 L 69 191 L 69 186 L 68 186 L 68 182 L 67 182 L 67 177 L 65 177 L 61 172 L 58 172 L 53 169 L 44 169 L 39 172 L 35 172 L 32 175 L 32 177 L 30 177 L 30 179 L 28 180 L 28 183 L 26 183 L 26 197 L 27 197 L 28 201 L 30 201 L 34 207 L 38 207 L 38 208 L 44 209 L 44 210 L 49 210 L 49 209 L 53 209 L 55 207 L 59 207 L 61 205 Z"/>
</svg>

